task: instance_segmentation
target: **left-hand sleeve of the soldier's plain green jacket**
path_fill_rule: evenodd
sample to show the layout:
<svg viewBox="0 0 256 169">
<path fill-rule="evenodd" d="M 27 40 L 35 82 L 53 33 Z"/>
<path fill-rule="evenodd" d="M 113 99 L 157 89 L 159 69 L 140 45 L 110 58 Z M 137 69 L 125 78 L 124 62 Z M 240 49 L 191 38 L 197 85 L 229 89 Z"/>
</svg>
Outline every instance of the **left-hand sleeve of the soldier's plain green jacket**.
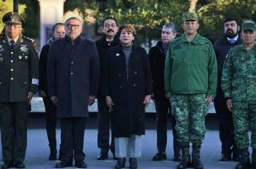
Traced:
<svg viewBox="0 0 256 169">
<path fill-rule="evenodd" d="M 165 59 L 165 66 L 164 66 L 164 87 L 165 87 L 165 95 L 166 97 L 172 96 L 171 93 L 171 74 L 172 74 L 172 67 L 173 67 L 173 60 L 171 57 L 171 46 L 169 45 L 168 51 L 166 54 L 166 59 Z"/>
</svg>

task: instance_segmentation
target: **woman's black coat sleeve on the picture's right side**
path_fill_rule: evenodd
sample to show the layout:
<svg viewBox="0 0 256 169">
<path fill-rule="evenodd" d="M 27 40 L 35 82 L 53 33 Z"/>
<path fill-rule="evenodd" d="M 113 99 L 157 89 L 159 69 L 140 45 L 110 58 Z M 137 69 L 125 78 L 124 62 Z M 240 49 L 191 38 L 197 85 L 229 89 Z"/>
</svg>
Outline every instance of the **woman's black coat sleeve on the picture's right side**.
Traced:
<svg viewBox="0 0 256 169">
<path fill-rule="evenodd" d="M 142 57 L 143 57 L 144 72 L 145 72 L 145 94 L 151 95 L 152 94 L 152 75 L 151 75 L 151 69 L 149 65 L 149 57 L 145 49 L 142 50 Z"/>
</svg>

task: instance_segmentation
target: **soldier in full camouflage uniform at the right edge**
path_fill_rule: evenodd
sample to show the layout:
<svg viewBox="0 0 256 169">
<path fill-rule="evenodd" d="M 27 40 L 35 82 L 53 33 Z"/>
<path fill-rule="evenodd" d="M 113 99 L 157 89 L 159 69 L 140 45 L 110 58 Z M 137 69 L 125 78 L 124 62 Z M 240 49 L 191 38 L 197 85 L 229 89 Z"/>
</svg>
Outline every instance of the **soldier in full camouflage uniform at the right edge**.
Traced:
<svg viewBox="0 0 256 169">
<path fill-rule="evenodd" d="M 222 72 L 221 87 L 226 105 L 232 110 L 235 143 L 241 159 L 235 169 L 249 168 L 249 129 L 251 134 L 252 168 L 256 169 L 256 25 L 246 21 L 242 26 L 243 44 L 230 49 Z"/>
</svg>

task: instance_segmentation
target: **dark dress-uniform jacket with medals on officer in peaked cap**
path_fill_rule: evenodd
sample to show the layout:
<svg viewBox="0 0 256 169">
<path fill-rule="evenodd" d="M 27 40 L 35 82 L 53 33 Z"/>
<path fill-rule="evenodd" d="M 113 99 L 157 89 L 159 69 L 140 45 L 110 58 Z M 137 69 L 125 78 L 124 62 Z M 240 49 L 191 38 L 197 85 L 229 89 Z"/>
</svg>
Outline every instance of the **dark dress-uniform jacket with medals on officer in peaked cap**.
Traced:
<svg viewBox="0 0 256 169">
<path fill-rule="evenodd" d="M 27 101 L 38 87 L 38 56 L 30 40 L 22 36 L 12 49 L 0 36 L 0 102 Z"/>
</svg>

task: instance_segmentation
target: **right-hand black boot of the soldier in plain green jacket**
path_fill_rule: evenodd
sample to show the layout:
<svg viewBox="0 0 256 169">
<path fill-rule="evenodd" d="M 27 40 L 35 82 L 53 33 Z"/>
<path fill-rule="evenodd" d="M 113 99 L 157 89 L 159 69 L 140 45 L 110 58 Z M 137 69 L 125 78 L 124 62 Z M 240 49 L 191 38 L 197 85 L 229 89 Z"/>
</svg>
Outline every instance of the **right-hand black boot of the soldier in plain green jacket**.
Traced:
<svg viewBox="0 0 256 169">
<path fill-rule="evenodd" d="M 192 145 L 192 167 L 195 169 L 203 169 L 203 165 L 200 160 L 201 144 L 193 143 Z"/>
</svg>

